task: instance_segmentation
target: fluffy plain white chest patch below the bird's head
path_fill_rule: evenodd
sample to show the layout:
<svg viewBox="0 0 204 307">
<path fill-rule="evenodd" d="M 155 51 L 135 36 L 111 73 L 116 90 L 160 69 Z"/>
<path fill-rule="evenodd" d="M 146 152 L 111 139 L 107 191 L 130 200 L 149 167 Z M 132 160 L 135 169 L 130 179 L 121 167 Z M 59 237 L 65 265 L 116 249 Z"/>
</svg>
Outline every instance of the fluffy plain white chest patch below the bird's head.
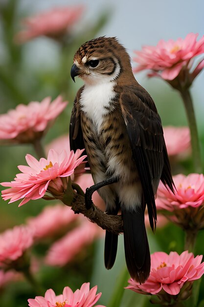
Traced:
<svg viewBox="0 0 204 307">
<path fill-rule="evenodd" d="M 115 97 L 114 82 L 85 85 L 80 105 L 94 125 L 100 128 L 103 116 L 111 111 L 110 104 Z"/>
</svg>

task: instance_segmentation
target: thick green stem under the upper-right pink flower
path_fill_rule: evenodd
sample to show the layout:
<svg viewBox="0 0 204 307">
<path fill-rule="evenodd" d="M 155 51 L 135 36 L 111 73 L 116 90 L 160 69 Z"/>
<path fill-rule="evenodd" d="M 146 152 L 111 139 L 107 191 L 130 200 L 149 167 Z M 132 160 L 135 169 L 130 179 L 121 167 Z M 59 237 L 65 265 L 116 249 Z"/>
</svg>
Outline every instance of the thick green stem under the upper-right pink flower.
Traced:
<svg viewBox="0 0 204 307">
<path fill-rule="evenodd" d="M 192 146 L 192 155 L 193 155 L 193 162 L 195 171 L 197 173 L 202 173 L 203 167 L 202 167 L 202 159 L 201 159 L 201 149 L 199 144 L 199 138 L 198 138 L 198 128 L 196 124 L 196 117 L 195 112 L 193 108 L 193 101 L 190 95 L 190 92 L 188 89 L 181 89 L 180 94 L 185 106 L 187 119 L 188 119 L 188 125 L 190 128 L 190 135 L 191 135 L 191 146 Z"/>
</svg>

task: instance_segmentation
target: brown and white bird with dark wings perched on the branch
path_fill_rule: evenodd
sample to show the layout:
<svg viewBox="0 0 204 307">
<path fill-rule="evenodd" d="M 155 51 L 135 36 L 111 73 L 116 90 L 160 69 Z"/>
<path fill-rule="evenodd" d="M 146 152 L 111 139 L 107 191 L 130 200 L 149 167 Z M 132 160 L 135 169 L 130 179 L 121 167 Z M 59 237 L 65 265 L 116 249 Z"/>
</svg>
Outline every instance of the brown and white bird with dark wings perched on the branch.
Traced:
<svg viewBox="0 0 204 307">
<path fill-rule="evenodd" d="M 121 212 L 127 269 L 137 282 L 150 274 L 151 258 L 144 213 L 156 229 L 155 197 L 161 180 L 174 190 L 161 119 L 148 92 L 136 81 L 131 58 L 116 37 L 98 37 L 75 53 L 70 72 L 84 85 L 71 112 L 70 149 L 84 149 L 94 185 L 85 204 L 98 191 L 106 213 Z M 106 230 L 104 261 L 111 269 L 118 235 Z"/>
</svg>

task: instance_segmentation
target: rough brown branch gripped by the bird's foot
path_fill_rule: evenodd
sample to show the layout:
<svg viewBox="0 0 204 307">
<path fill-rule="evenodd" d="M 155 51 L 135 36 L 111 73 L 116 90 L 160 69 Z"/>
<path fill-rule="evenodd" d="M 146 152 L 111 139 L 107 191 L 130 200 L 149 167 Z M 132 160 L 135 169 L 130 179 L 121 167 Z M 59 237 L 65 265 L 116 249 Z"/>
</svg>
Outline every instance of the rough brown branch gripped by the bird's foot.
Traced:
<svg viewBox="0 0 204 307">
<path fill-rule="evenodd" d="M 75 193 L 74 198 L 72 199 L 71 204 L 66 201 L 65 198 L 61 199 L 65 205 L 71 206 L 71 209 L 74 213 L 82 213 L 86 216 L 91 222 L 96 223 L 104 230 L 108 230 L 115 234 L 123 232 L 123 223 L 121 215 L 109 215 L 99 209 L 92 203 L 90 209 L 86 208 L 85 198 L 82 195 Z"/>
</svg>

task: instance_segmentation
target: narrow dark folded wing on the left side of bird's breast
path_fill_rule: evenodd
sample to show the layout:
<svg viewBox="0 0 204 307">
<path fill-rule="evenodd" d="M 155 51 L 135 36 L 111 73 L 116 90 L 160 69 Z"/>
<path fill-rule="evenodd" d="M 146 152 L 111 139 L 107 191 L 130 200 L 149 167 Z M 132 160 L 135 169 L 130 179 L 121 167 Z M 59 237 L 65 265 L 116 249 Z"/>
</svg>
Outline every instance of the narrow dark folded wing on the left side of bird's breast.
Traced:
<svg viewBox="0 0 204 307">
<path fill-rule="evenodd" d="M 83 87 L 81 87 L 75 97 L 74 105 L 71 111 L 70 125 L 69 125 L 69 142 L 70 142 L 70 150 L 74 152 L 77 149 L 85 149 L 84 138 L 81 128 L 81 115 L 80 115 L 80 106 L 79 100 L 82 93 Z M 86 150 L 83 154 L 87 154 Z M 86 163 L 86 167 L 88 167 L 88 162 Z"/>
</svg>

